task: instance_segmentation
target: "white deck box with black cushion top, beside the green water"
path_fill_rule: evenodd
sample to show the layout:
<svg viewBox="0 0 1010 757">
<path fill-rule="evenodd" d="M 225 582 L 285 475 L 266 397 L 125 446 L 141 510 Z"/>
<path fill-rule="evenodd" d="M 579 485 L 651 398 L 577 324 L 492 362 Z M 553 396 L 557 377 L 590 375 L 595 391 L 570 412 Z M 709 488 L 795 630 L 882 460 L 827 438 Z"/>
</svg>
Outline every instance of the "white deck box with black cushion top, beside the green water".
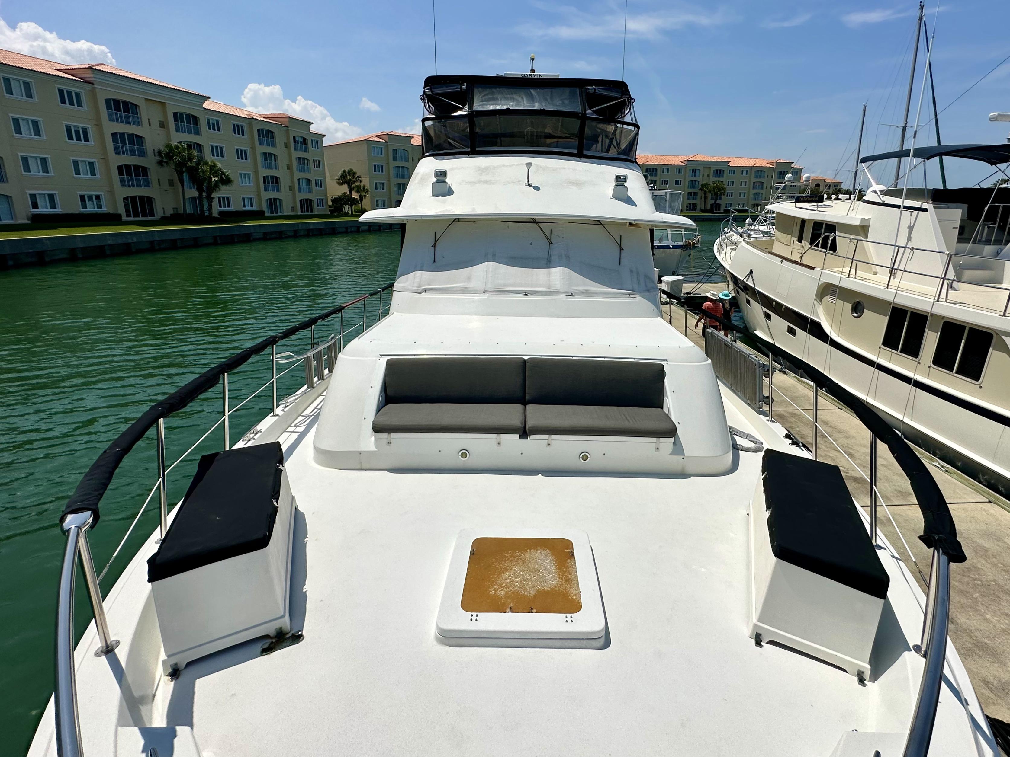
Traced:
<svg viewBox="0 0 1010 757">
<path fill-rule="evenodd" d="M 291 631 L 295 503 L 277 442 L 204 455 L 147 580 L 163 667 Z"/>
</svg>

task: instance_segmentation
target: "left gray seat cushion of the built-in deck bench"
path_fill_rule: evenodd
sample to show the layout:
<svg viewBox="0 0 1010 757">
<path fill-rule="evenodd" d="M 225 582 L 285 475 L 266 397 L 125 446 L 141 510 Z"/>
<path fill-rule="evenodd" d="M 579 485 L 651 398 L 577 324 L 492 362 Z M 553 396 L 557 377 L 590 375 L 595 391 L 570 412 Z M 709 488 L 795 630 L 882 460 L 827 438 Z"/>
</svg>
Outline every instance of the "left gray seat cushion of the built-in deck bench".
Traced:
<svg viewBox="0 0 1010 757">
<path fill-rule="evenodd" d="M 377 434 L 521 434 L 522 405 L 397 403 L 372 422 Z"/>
</svg>

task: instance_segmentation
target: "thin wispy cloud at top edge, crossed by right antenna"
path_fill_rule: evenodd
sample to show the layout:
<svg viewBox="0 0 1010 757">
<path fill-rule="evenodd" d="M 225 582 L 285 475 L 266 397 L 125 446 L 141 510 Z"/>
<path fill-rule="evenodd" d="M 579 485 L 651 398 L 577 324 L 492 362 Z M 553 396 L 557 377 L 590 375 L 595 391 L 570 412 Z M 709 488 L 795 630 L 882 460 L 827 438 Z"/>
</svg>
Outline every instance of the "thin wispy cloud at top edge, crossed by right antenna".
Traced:
<svg viewBox="0 0 1010 757">
<path fill-rule="evenodd" d="M 520 33 L 534 37 L 554 39 L 620 39 L 624 33 L 624 10 L 599 6 L 586 11 L 571 5 L 548 5 L 534 3 L 540 10 L 565 16 L 560 24 L 524 24 L 518 27 Z M 628 14 L 628 37 L 662 39 L 666 32 L 686 26 L 717 26 L 733 20 L 732 14 L 724 8 L 701 8 L 687 3 L 674 3 L 663 11 Z"/>
</svg>

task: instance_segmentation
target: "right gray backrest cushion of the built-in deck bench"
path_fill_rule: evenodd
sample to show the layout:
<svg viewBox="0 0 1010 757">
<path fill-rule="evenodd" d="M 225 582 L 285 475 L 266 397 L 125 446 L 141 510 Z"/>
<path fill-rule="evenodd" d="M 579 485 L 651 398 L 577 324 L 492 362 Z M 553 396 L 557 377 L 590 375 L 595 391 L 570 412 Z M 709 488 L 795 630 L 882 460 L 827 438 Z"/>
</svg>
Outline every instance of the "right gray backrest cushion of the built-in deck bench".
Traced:
<svg viewBox="0 0 1010 757">
<path fill-rule="evenodd" d="M 526 359 L 527 405 L 663 409 L 662 362 Z"/>
</svg>

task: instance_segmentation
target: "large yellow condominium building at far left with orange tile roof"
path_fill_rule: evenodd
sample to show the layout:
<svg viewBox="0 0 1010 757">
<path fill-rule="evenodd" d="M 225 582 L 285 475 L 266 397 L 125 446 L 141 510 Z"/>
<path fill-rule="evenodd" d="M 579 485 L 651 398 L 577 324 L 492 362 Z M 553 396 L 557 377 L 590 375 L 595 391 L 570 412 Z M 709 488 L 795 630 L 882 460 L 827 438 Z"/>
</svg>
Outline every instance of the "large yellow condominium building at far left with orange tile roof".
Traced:
<svg viewBox="0 0 1010 757">
<path fill-rule="evenodd" d="M 234 183 L 213 211 L 323 213 L 323 134 L 286 113 L 254 113 L 106 64 L 68 66 L 0 49 L 0 221 L 46 214 L 125 219 L 196 212 L 189 180 L 158 166 L 192 144 Z"/>
</svg>

